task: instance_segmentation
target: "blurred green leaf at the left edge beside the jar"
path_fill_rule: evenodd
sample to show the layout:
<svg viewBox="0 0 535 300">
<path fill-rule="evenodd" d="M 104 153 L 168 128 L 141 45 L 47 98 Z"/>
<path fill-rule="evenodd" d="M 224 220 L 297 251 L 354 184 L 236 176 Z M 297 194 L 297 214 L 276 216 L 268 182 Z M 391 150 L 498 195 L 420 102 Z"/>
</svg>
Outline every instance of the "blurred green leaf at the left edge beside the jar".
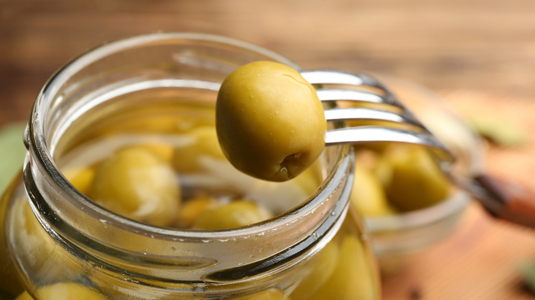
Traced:
<svg viewBox="0 0 535 300">
<path fill-rule="evenodd" d="M 14 123 L 0 129 L 0 195 L 24 163 L 25 123 Z"/>
</svg>

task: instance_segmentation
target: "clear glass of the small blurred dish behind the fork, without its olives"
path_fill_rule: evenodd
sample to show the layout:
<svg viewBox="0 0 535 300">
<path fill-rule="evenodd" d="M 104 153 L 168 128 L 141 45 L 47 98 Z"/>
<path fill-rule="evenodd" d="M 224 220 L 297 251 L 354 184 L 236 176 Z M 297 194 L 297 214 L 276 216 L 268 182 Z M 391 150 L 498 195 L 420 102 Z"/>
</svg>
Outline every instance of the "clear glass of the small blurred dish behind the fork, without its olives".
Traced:
<svg viewBox="0 0 535 300">
<path fill-rule="evenodd" d="M 377 77 L 451 149 L 456 158 L 452 171 L 457 177 L 467 178 L 483 167 L 482 141 L 449 103 L 418 84 L 385 75 Z M 404 256 L 423 251 L 452 234 L 470 200 L 468 192 L 457 189 L 444 201 L 427 208 L 366 216 L 365 223 L 383 272 L 395 271 L 403 266 Z"/>
</svg>

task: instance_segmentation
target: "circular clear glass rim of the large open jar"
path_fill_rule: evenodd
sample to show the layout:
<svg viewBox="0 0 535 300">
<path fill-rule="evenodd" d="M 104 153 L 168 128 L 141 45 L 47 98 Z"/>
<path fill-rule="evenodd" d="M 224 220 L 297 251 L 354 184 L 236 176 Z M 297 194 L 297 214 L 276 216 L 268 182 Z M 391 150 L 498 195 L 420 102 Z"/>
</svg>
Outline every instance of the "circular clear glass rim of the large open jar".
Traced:
<svg viewBox="0 0 535 300">
<path fill-rule="evenodd" d="M 350 153 L 350 146 L 348 145 L 337 146 L 340 147 L 340 150 L 337 151 L 337 164 L 335 164 L 335 167 L 333 167 L 333 171 L 331 171 L 326 179 L 324 179 L 322 186 L 316 191 L 316 193 L 311 195 L 311 197 L 309 197 L 309 199 L 306 201 L 304 199 L 302 204 L 279 216 L 270 218 L 267 221 L 255 223 L 247 227 L 237 227 L 222 230 L 201 231 L 171 227 L 158 227 L 155 225 L 148 225 L 146 223 L 134 221 L 125 216 L 121 216 L 120 214 L 110 212 L 106 208 L 102 208 L 100 205 L 97 205 L 95 202 L 91 201 L 91 199 L 74 188 L 74 186 L 72 186 L 72 184 L 62 175 L 60 169 L 58 166 L 56 166 L 51 150 L 49 149 L 46 128 L 47 118 L 46 115 L 43 114 L 43 112 L 49 108 L 51 100 L 56 97 L 58 88 L 64 84 L 69 77 L 73 76 L 75 73 L 84 68 L 84 66 L 104 58 L 106 55 L 110 55 L 118 51 L 124 51 L 125 49 L 135 47 L 136 45 L 145 45 L 150 44 L 151 42 L 177 39 L 213 42 L 215 44 L 229 45 L 244 49 L 246 51 L 261 53 L 262 55 L 272 58 L 273 60 L 283 62 L 300 70 L 300 67 L 297 64 L 285 58 L 283 55 L 275 53 L 274 51 L 270 51 L 243 40 L 237 40 L 234 38 L 217 36 L 213 34 L 158 32 L 124 38 L 114 42 L 107 42 L 104 45 L 90 49 L 56 71 L 56 73 L 54 73 L 47 81 L 45 86 L 43 86 L 43 89 L 40 91 L 36 102 L 34 103 L 32 115 L 30 116 L 29 124 L 25 132 L 25 143 L 29 148 L 29 151 L 32 153 L 32 158 L 37 160 L 38 164 L 43 166 L 46 175 L 45 177 L 47 177 L 47 183 L 51 185 L 55 184 L 64 192 L 64 194 L 71 197 L 73 201 L 76 201 L 78 207 L 84 210 L 86 214 L 91 214 L 95 218 L 99 219 L 115 221 L 118 226 L 123 228 L 130 228 L 137 232 L 151 232 L 152 234 L 157 234 L 168 238 L 222 239 L 263 234 L 263 232 L 273 229 L 274 227 L 281 226 L 281 224 L 294 223 L 296 219 L 306 217 L 310 210 L 316 210 L 317 208 L 320 208 L 325 197 L 328 197 L 328 195 L 325 195 L 325 189 L 328 187 L 333 188 L 333 185 L 337 184 L 337 180 L 340 180 L 347 170 L 352 170 L 353 168 L 351 163 L 352 160 L 347 159 Z M 352 180 L 350 182 L 352 182 Z"/>
</svg>

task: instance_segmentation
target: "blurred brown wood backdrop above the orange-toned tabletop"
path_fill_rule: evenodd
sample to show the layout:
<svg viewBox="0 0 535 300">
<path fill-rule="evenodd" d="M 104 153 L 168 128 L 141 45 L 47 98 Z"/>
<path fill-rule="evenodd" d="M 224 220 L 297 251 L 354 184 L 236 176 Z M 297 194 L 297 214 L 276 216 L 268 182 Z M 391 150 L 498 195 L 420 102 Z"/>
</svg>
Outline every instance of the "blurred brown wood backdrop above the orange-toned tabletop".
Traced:
<svg viewBox="0 0 535 300">
<path fill-rule="evenodd" d="M 305 68 L 534 97 L 534 20 L 530 0 L 6 0 L 0 101 L 12 113 L 0 124 L 26 117 L 47 77 L 75 55 L 159 30 L 247 40 Z"/>
</svg>

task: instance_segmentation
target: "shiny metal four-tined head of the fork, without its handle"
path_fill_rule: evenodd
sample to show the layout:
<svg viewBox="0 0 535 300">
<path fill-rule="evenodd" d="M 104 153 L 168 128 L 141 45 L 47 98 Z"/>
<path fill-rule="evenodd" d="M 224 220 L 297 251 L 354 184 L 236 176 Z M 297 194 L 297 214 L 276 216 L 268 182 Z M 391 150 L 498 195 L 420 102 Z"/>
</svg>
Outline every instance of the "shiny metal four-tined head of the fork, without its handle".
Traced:
<svg viewBox="0 0 535 300">
<path fill-rule="evenodd" d="M 316 87 L 323 102 L 351 101 L 374 103 L 377 108 L 349 107 L 325 109 L 327 121 L 381 121 L 392 127 L 357 126 L 331 129 L 326 133 L 325 144 L 365 144 L 368 142 L 402 142 L 424 145 L 433 149 L 449 168 L 454 158 L 451 151 L 415 118 L 394 94 L 374 77 L 357 73 L 319 70 L 303 71 L 301 75 Z M 403 125 L 403 129 L 398 128 Z"/>
</svg>

